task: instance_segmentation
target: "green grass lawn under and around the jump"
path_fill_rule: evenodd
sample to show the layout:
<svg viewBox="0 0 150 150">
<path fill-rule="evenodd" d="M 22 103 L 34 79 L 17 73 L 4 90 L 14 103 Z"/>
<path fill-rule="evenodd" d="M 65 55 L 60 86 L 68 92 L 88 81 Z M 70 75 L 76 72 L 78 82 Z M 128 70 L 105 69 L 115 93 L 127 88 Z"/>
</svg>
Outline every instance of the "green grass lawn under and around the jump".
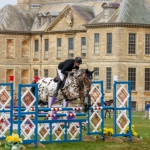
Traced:
<svg viewBox="0 0 150 150">
<path fill-rule="evenodd" d="M 74 142 L 74 143 L 50 143 L 45 144 L 43 150 L 150 150 L 150 119 L 142 119 L 144 112 L 133 113 L 133 124 L 135 131 L 142 136 L 141 143 L 105 143 L 104 141 L 97 142 Z M 113 119 L 105 119 L 105 127 L 113 127 Z M 27 150 L 39 150 L 41 148 L 28 148 Z M 4 148 L 0 148 L 4 150 Z"/>
</svg>

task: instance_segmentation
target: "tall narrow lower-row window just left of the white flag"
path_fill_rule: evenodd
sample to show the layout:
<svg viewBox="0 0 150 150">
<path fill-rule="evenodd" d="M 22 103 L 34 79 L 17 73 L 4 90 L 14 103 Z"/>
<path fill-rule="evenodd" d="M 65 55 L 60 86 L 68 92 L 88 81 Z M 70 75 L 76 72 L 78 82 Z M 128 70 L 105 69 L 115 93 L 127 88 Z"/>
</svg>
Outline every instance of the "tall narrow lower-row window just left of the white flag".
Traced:
<svg viewBox="0 0 150 150">
<path fill-rule="evenodd" d="M 111 68 L 106 68 L 106 90 L 111 90 Z"/>
</svg>

